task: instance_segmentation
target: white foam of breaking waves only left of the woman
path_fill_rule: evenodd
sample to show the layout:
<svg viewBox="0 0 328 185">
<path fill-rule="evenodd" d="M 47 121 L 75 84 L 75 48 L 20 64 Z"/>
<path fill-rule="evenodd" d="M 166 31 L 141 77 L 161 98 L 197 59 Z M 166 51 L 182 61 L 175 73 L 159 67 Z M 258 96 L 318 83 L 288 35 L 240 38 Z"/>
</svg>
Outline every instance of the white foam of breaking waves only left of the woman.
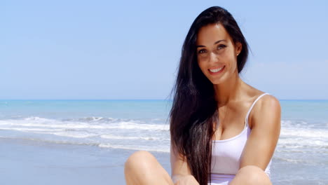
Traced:
<svg viewBox="0 0 328 185">
<path fill-rule="evenodd" d="M 78 118 L 79 119 L 79 118 Z M 83 118 L 84 119 L 84 118 Z M 0 130 L 15 132 L 16 139 L 36 139 L 44 142 L 63 144 L 104 144 L 104 147 L 138 149 L 139 146 L 153 151 L 160 151 L 168 145 L 170 137 L 168 124 L 136 123 L 119 121 L 114 123 L 98 122 L 104 118 L 90 118 L 90 121 L 61 121 L 49 118 L 28 117 L 20 119 L 0 120 Z M 6 132 L 11 137 L 10 132 Z M 153 146 L 144 146 L 144 142 Z M 114 143 L 111 143 L 114 142 Z M 121 145 L 117 145 L 121 144 Z"/>
</svg>

